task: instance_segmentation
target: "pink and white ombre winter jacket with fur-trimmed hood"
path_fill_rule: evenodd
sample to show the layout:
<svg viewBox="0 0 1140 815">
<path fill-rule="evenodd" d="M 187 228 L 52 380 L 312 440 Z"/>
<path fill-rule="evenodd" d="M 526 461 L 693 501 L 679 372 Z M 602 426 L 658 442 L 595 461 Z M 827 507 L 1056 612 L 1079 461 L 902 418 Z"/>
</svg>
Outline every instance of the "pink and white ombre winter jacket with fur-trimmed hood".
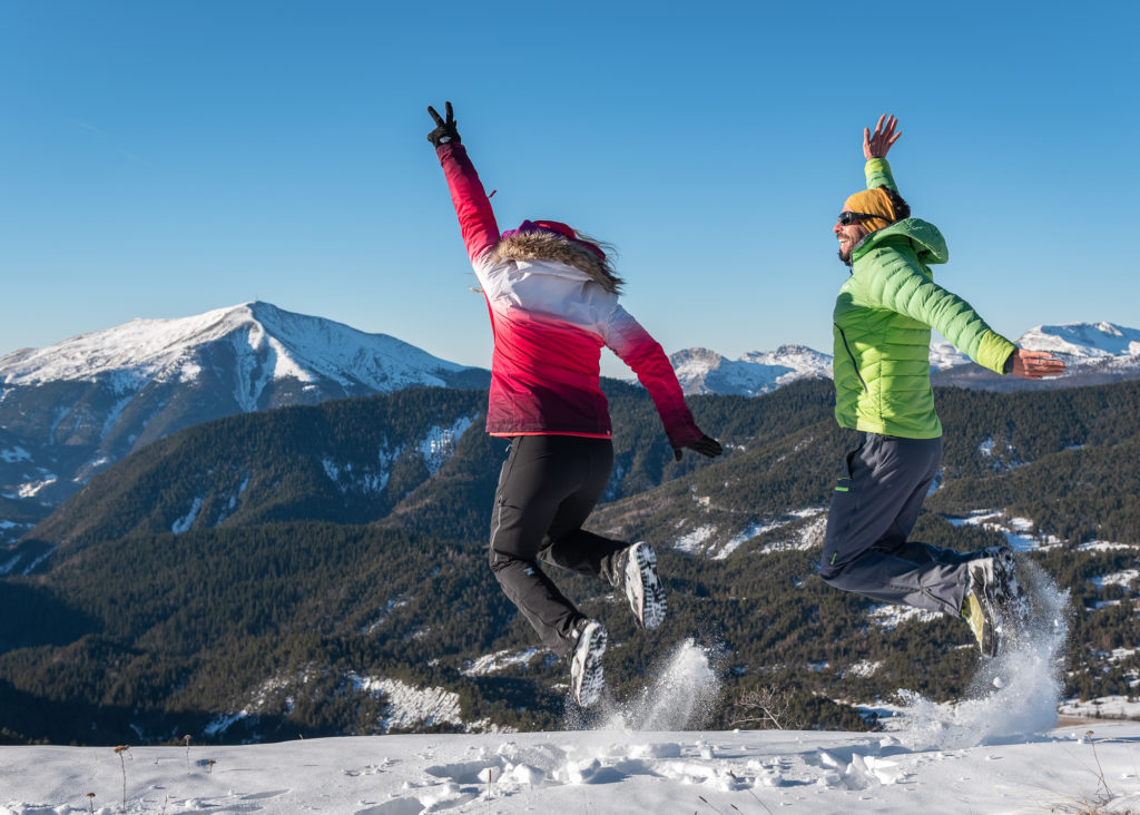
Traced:
<svg viewBox="0 0 1140 815">
<path fill-rule="evenodd" d="M 616 286 L 591 274 L 593 252 L 543 231 L 500 236 L 464 146 L 453 141 L 435 152 L 495 335 L 487 432 L 610 438 L 598 383 L 605 345 L 649 391 L 669 442 L 683 448 L 700 440 L 669 358 L 618 304 Z"/>
</svg>

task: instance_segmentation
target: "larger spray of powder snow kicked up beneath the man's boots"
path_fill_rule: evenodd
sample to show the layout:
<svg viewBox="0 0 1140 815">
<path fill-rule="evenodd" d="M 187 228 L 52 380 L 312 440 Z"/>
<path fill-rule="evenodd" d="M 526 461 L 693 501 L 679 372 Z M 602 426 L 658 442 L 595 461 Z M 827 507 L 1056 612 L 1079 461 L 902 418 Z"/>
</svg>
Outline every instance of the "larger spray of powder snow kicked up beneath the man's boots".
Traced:
<svg viewBox="0 0 1140 815">
<path fill-rule="evenodd" d="M 904 709 L 898 728 L 905 732 L 899 737 L 912 741 L 912 749 L 1002 744 L 1057 725 L 1069 593 L 1028 559 L 1018 559 L 1017 573 L 1029 596 L 1029 620 L 1005 636 L 997 657 L 982 663 L 966 699 L 944 706 L 913 691 L 899 691 Z"/>
</svg>

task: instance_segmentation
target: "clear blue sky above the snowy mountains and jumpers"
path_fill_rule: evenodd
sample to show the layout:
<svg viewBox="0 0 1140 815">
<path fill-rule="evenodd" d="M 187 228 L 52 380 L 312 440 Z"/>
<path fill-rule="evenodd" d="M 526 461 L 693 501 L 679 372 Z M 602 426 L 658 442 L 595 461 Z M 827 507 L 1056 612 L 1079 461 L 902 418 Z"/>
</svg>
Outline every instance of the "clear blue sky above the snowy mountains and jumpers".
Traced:
<svg viewBox="0 0 1140 815">
<path fill-rule="evenodd" d="M 668 352 L 830 352 L 882 112 L 996 331 L 1137 327 L 1137 9 L 0 0 L 0 354 L 259 299 L 488 365 L 446 99 L 500 226 L 616 244 Z"/>
</svg>

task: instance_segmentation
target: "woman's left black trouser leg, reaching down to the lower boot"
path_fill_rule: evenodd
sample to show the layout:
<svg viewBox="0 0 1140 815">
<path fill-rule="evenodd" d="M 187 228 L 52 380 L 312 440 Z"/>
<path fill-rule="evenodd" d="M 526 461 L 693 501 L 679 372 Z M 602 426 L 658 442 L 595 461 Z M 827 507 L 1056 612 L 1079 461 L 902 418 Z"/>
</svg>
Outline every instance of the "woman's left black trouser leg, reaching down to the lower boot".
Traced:
<svg viewBox="0 0 1140 815">
<path fill-rule="evenodd" d="M 573 437 L 524 435 L 511 442 L 491 514 L 490 565 L 506 596 L 560 655 L 583 614 L 538 564 L 563 500 L 588 473 L 588 446 Z"/>
</svg>

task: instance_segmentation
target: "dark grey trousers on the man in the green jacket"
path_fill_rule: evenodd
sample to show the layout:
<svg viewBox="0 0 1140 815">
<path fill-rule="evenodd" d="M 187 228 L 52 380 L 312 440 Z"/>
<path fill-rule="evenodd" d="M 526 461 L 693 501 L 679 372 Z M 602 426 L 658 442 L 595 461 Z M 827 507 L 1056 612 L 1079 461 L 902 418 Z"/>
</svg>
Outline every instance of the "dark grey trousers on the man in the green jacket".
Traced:
<svg viewBox="0 0 1140 815">
<path fill-rule="evenodd" d="M 978 553 L 909 541 L 942 463 L 942 439 L 862 433 L 831 499 L 820 577 L 883 603 L 959 614 Z"/>
</svg>

